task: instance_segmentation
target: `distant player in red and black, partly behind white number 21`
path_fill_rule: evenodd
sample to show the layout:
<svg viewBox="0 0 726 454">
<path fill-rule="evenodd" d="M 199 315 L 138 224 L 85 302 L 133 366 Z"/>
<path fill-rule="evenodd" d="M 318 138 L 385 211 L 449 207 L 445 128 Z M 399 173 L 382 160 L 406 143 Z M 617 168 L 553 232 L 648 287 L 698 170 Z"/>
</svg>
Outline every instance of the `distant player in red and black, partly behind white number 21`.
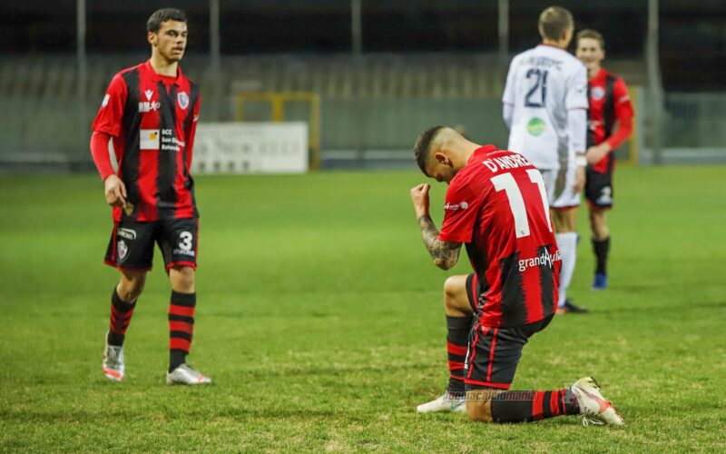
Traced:
<svg viewBox="0 0 726 454">
<path fill-rule="evenodd" d="M 633 105 L 623 79 L 603 69 L 605 41 L 594 30 L 577 34 L 576 55 L 587 68 L 590 91 L 590 127 L 587 134 L 587 182 L 584 195 L 590 212 L 595 275 L 593 289 L 607 288 L 610 229 L 606 213 L 613 207 L 613 150 L 633 133 Z M 614 130 L 618 123 L 617 130 Z"/>
</svg>

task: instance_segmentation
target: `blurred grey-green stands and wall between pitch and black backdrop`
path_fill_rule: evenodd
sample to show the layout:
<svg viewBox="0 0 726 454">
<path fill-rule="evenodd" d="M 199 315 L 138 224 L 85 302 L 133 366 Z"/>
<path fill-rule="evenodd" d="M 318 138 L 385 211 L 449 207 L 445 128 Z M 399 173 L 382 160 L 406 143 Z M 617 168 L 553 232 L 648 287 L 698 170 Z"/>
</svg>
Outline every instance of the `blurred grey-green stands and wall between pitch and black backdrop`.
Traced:
<svg viewBox="0 0 726 454">
<path fill-rule="evenodd" d="M 79 115 L 73 58 L 0 58 L 0 162 L 90 163 L 90 125 L 107 84 L 119 69 L 144 58 L 89 57 L 85 118 Z M 218 95 L 205 96 L 201 121 L 235 121 L 242 92 L 307 92 L 319 99 L 316 145 L 323 160 L 341 153 L 356 159 L 367 153 L 396 155 L 410 150 L 423 129 L 439 123 L 462 125 L 477 142 L 505 146 L 499 101 L 503 75 L 495 59 L 471 54 L 225 57 L 217 90 L 207 92 Z M 191 55 L 182 67 L 202 92 L 214 83 L 206 56 Z M 622 67 L 631 74 L 623 74 L 626 81 L 637 80 L 638 74 L 643 80 L 638 65 Z M 637 143 L 643 148 L 641 162 L 650 163 L 648 100 L 638 98 Z M 669 153 L 677 154 L 679 162 L 697 162 L 704 155 L 726 161 L 726 94 L 666 93 L 663 108 L 666 162 Z M 290 119 L 305 119 L 300 115 L 305 116 L 293 112 Z"/>
</svg>

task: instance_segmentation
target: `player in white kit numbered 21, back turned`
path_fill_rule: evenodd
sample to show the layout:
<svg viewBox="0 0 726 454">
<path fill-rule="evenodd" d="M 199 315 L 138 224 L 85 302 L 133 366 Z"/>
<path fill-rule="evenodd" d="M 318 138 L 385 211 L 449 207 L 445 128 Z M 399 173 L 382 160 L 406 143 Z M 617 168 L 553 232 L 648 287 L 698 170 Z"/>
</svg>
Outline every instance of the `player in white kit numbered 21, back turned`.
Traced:
<svg viewBox="0 0 726 454">
<path fill-rule="evenodd" d="M 542 43 L 512 60 L 502 98 L 510 130 L 507 149 L 539 169 L 552 207 L 563 260 L 558 313 L 587 311 L 566 296 L 577 259 L 575 222 L 587 165 L 587 70 L 566 51 L 573 32 L 569 11 L 545 9 L 539 16 Z"/>
</svg>

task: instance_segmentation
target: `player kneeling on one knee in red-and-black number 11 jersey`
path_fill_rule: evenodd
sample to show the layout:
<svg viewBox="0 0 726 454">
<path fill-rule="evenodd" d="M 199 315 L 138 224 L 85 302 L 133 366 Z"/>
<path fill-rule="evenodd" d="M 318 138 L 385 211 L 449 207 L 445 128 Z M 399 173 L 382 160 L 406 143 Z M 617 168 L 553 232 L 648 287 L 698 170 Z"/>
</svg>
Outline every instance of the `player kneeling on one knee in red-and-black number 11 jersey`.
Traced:
<svg viewBox="0 0 726 454">
<path fill-rule="evenodd" d="M 561 260 L 542 174 L 525 156 L 469 142 L 446 126 L 422 133 L 414 153 L 425 175 L 448 183 L 441 232 L 429 216 L 429 185 L 411 189 L 428 252 L 448 270 L 466 243 L 474 269 L 444 284 L 451 376 L 446 393 L 417 411 L 466 411 L 484 422 L 579 414 L 623 424 L 591 377 L 569 389 L 509 390 L 525 343 L 556 307 Z"/>
</svg>

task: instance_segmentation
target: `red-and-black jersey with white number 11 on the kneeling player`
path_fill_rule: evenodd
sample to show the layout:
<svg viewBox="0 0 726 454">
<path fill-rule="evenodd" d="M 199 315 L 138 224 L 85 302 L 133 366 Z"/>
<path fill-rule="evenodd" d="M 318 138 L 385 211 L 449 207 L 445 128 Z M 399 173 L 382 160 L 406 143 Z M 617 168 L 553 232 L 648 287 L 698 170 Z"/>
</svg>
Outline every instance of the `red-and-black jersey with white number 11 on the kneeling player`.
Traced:
<svg viewBox="0 0 726 454">
<path fill-rule="evenodd" d="M 477 149 L 449 183 L 438 239 L 466 243 L 484 326 L 520 326 L 554 313 L 562 259 L 544 191 L 525 156 L 493 145 Z"/>
</svg>

